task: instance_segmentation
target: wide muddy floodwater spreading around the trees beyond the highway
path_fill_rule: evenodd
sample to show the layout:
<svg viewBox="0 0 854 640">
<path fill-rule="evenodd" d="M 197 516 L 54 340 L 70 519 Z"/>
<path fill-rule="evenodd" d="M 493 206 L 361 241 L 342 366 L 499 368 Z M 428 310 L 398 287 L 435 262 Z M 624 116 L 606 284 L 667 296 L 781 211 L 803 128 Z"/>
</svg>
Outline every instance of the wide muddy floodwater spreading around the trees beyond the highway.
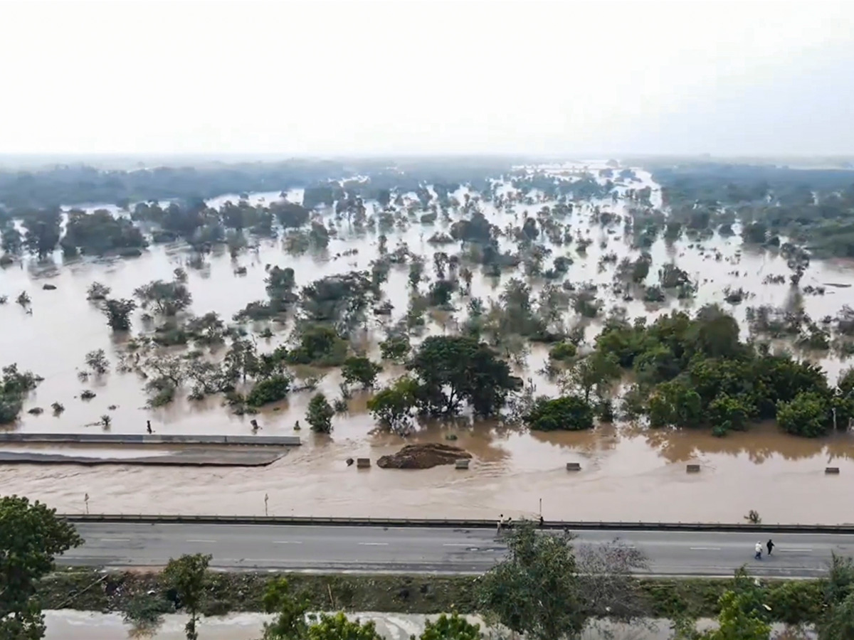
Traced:
<svg viewBox="0 0 854 640">
<path fill-rule="evenodd" d="M 638 175 L 643 182 L 635 183 L 636 188 L 652 183 L 648 173 L 638 171 Z M 252 200 L 276 197 L 278 194 L 259 194 Z M 301 194 L 291 197 L 299 201 Z M 236 201 L 237 195 L 222 196 L 213 204 L 229 198 Z M 660 194 L 653 191 L 653 203 L 656 200 L 660 203 Z M 546 204 L 517 203 L 515 213 L 496 212 L 489 203 L 482 207 L 490 221 L 504 228 L 508 223 L 521 224 L 525 211 L 535 215 Z M 624 209 L 623 201 L 600 205 L 611 212 Z M 557 255 L 570 255 L 575 262 L 568 280 L 605 284 L 611 282 L 614 265 L 600 272 L 600 257 L 611 251 L 618 257 L 634 257 L 637 252 L 630 252 L 623 243 L 621 224 L 608 233 L 591 225 L 590 215 L 590 205 L 576 207 L 564 221 L 571 224 L 574 234 L 593 240 L 587 256 L 576 253 L 573 242 L 553 247 L 547 265 Z M 111 371 L 100 379 L 79 381 L 77 372 L 84 367 L 86 352 L 102 348 L 115 364 L 124 348 L 109 331 L 101 312 L 86 300 L 86 288 L 97 280 L 113 288 L 112 295 L 129 298 L 134 288 L 155 278 L 170 279 L 173 270 L 182 266 L 189 274 L 192 311 L 198 315 L 217 311 L 229 320 L 248 302 L 266 299 L 265 265 L 291 266 L 298 285 L 336 272 L 368 269 L 377 254 L 377 234 L 367 231 L 357 236 L 348 229 L 346 220 L 338 229 L 338 237 L 322 253 L 294 256 L 284 252 L 280 241 L 261 241 L 257 253 L 244 252 L 236 261 L 219 247 L 219 253 L 208 256 L 201 270 L 186 265 L 190 253 L 177 244 L 151 247 L 137 259 L 78 259 L 62 264 L 57 255 L 53 265 L 26 261 L 0 271 L 0 295 L 9 295 L 9 303 L 0 305 L 0 364 L 16 362 L 20 369 L 44 376 L 25 406 L 25 411 L 41 407 L 44 413 L 33 416 L 25 412 L 13 428 L 31 433 L 85 433 L 102 429 L 101 416 L 109 415 L 113 433 L 142 433 L 147 420 L 156 433 L 251 433 L 252 416 L 231 415 L 216 397 L 202 401 L 179 398 L 167 407 L 149 410 L 144 406 L 144 381 L 136 374 Z M 424 255 L 424 274 L 432 278 L 432 254 L 436 250 L 448 254 L 459 250 L 456 244 L 433 247 L 427 242 L 435 231 L 442 230 L 447 231 L 447 223 L 440 218 L 435 225 L 413 223 L 406 230 L 390 231 L 389 252 L 395 250 L 398 241 L 406 241 L 412 252 Z M 602 242 L 605 248 L 600 246 Z M 502 243 L 512 246 L 507 239 Z M 700 251 L 698 244 L 705 250 Z M 336 254 L 354 247 L 359 253 L 336 258 Z M 744 325 L 748 305 L 783 305 L 791 296 L 787 284 L 763 284 L 765 276 L 787 276 L 786 261 L 771 251 L 742 247 L 740 236 L 715 236 L 699 243 L 682 238 L 670 246 L 659 239 L 650 253 L 653 264 L 647 281 L 654 282 L 658 268 L 672 259 L 699 282 L 696 299 L 669 300 L 663 305 L 639 300 L 623 303 L 600 289 L 600 296 L 605 295 L 607 300 L 606 309 L 620 304 L 628 308 L 629 317 L 654 317 L 671 308 L 699 308 L 706 302 L 718 302 Z M 238 265 L 246 267 L 245 276 L 234 273 Z M 491 279 L 472 271 L 476 272 L 472 295 L 484 300 L 497 297 L 511 277 L 524 277 L 518 271 Z M 407 274 L 407 265 L 392 267 L 384 286 L 388 300 L 395 305 L 390 322 L 406 313 Z M 56 290 L 43 290 L 47 282 L 56 285 Z M 826 282 L 854 284 L 854 268 L 843 262 L 813 261 L 801 285 Z M 533 298 L 541 285 L 541 281 L 534 282 Z M 740 305 L 727 305 L 723 301 L 727 286 L 744 288 L 754 297 Z M 422 291 L 424 287 L 422 283 Z M 32 315 L 14 302 L 23 290 L 32 298 Z M 805 295 L 804 308 L 816 320 L 834 315 L 850 301 L 847 291 L 828 287 L 823 296 Z M 448 314 L 434 314 L 430 330 L 452 332 L 455 322 L 465 319 L 465 305 L 458 303 L 458 307 L 453 319 L 448 319 Z M 145 330 L 139 313 L 134 323 L 137 331 Z M 571 311 L 567 317 L 572 317 Z M 572 318 L 571 323 L 576 322 Z M 270 340 L 256 335 L 262 350 L 284 340 L 290 326 L 274 330 L 276 335 Z M 588 325 L 588 344 L 598 330 L 597 323 Z M 369 353 L 378 358 L 375 345 L 370 345 Z M 518 374 L 531 378 L 537 393 L 553 394 L 553 381 L 537 373 L 546 360 L 547 349 L 532 346 L 526 366 L 518 369 Z M 835 358 L 819 362 L 832 381 L 845 366 Z M 389 380 L 400 373 L 401 369 L 387 365 L 381 378 Z M 340 375 L 332 370 L 319 388 L 332 398 L 338 394 L 340 381 Z M 88 401 L 80 399 L 84 389 L 97 396 Z M 294 393 L 287 401 L 254 416 L 262 427 L 260 433 L 297 433 L 295 421 L 305 415 L 310 395 Z M 535 515 L 542 498 L 542 514 L 548 519 L 740 521 L 749 509 L 757 509 L 766 522 L 854 521 L 854 503 L 850 492 L 845 491 L 845 479 L 854 474 L 854 439 L 846 434 L 822 440 L 798 439 L 780 433 L 773 425 L 724 439 L 701 432 L 652 432 L 632 425 L 603 426 L 592 433 L 525 433 L 494 423 L 471 427 L 462 421 L 431 424 L 404 440 L 376 433 L 366 411 L 366 399 L 366 393 L 354 394 L 348 414 L 334 419 L 331 436 L 315 435 L 307 429 L 298 432 L 304 445 L 266 468 L 15 465 L 0 468 L 0 486 L 3 493 L 26 494 L 67 513 L 83 511 L 83 497 L 88 493 L 92 512 L 253 515 L 263 513 L 268 495 L 269 511 L 277 515 L 494 518 L 499 513 Z M 50 410 L 55 401 L 65 407 L 59 416 Z M 453 444 L 474 455 L 468 471 L 376 467 L 357 471 L 344 463 L 348 457 L 376 460 L 407 441 L 443 441 L 448 433 L 459 438 Z M 104 455 L 113 456 L 114 452 L 105 451 Z M 568 462 L 581 463 L 582 471 L 566 472 Z M 687 463 L 699 463 L 701 472 L 687 475 Z M 841 473 L 826 476 L 826 466 L 839 467 Z"/>
</svg>

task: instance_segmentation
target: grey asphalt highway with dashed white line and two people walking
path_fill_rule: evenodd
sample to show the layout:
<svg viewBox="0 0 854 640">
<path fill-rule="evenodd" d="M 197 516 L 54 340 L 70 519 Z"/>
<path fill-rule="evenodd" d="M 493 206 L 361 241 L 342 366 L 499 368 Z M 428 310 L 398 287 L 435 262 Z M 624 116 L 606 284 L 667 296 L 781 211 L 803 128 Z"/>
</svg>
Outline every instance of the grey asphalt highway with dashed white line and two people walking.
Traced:
<svg viewBox="0 0 854 640">
<path fill-rule="evenodd" d="M 494 529 L 313 527 L 231 524 L 77 525 L 85 544 L 59 562 L 89 567 L 162 567 L 170 557 L 209 553 L 230 570 L 353 573 L 483 573 L 506 553 Z M 768 538 L 774 554 L 754 560 Z M 854 535 L 743 532 L 576 532 L 576 545 L 619 538 L 649 559 L 653 575 L 816 578 L 831 551 L 854 555 Z"/>
</svg>

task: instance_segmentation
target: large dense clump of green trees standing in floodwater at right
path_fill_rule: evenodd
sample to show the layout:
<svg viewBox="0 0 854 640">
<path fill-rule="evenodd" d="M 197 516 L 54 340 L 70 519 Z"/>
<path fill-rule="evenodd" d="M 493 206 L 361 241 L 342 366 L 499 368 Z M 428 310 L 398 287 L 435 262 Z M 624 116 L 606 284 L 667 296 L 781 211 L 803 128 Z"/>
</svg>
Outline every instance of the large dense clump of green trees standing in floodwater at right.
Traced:
<svg viewBox="0 0 854 640">
<path fill-rule="evenodd" d="M 650 324 L 611 318 L 588 358 L 611 358 L 633 372 L 626 410 L 652 427 L 705 426 L 722 435 L 775 419 L 789 433 L 816 437 L 847 429 L 854 417 L 854 371 L 834 386 L 816 364 L 741 342 L 738 323 L 717 306 Z"/>
</svg>

